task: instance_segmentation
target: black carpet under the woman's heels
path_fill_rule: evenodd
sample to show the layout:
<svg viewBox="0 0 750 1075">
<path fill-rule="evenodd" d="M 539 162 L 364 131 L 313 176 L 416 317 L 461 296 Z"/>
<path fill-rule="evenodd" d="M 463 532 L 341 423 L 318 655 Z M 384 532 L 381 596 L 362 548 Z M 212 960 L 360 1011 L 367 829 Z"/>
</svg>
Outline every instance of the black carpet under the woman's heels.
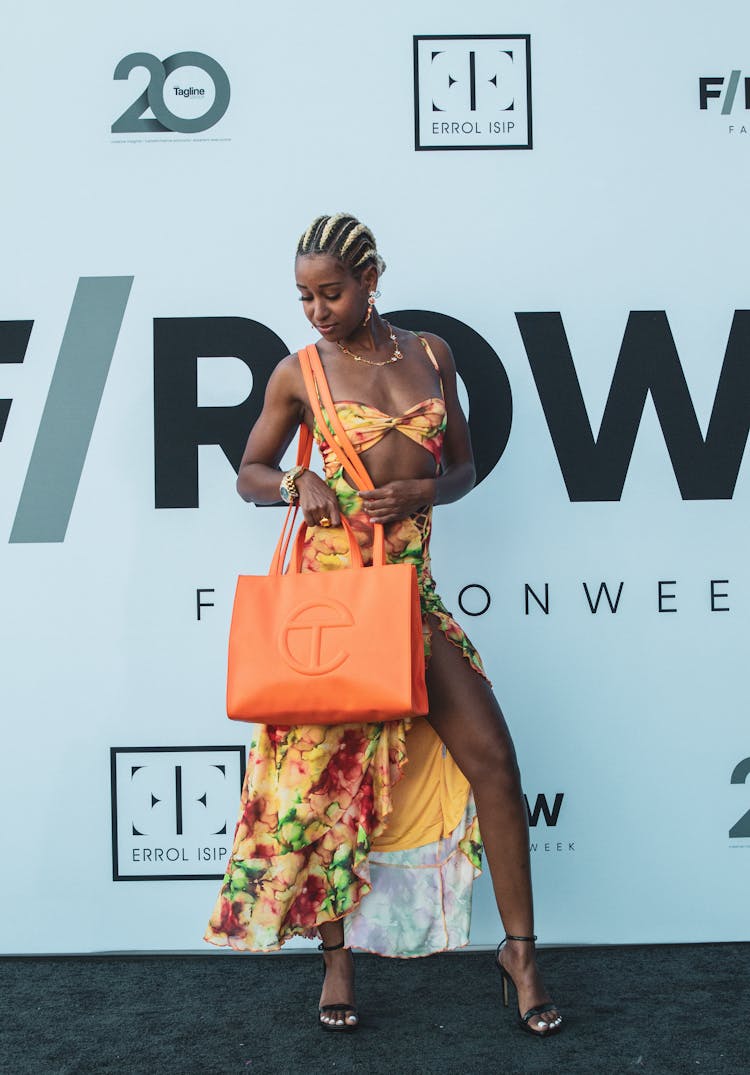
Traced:
<svg viewBox="0 0 750 1075">
<path fill-rule="evenodd" d="M 2 1075 L 750 1073 L 750 944 L 558 948 L 565 1031 L 522 1033 L 488 952 L 357 957 L 361 1026 L 318 1029 L 307 955 L 0 959 Z"/>
</svg>

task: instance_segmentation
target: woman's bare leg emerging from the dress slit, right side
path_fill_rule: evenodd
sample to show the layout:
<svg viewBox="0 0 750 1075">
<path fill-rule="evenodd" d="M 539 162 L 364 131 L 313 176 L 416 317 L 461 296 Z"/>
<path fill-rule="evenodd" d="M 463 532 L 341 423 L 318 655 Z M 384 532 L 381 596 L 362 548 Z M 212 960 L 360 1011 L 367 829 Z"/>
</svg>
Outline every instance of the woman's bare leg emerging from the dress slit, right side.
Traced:
<svg viewBox="0 0 750 1075">
<path fill-rule="evenodd" d="M 473 671 L 433 618 L 431 625 L 429 720 L 472 785 L 505 932 L 530 937 L 534 911 L 529 828 L 510 733 L 489 684 Z M 518 988 L 521 1013 L 549 1001 L 532 944 L 508 941 L 502 962 Z M 530 1026 L 542 1030 L 557 1019 L 554 1009 L 533 1016 Z"/>
</svg>

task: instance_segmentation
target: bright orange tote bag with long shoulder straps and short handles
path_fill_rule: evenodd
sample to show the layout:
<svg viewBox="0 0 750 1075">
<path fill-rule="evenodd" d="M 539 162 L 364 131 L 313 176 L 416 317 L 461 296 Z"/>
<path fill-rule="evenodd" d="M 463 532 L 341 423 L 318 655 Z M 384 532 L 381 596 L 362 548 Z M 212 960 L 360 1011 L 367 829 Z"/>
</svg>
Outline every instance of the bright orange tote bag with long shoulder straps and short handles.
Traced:
<svg viewBox="0 0 750 1075">
<path fill-rule="evenodd" d="M 361 487 L 373 488 L 335 414 L 315 348 L 300 352 L 300 362 L 319 428 Z M 336 430 L 335 441 L 320 413 L 320 399 Z M 309 462 L 311 447 L 309 430 L 303 426 L 298 462 Z M 357 538 L 342 517 L 350 567 L 302 572 L 306 527 L 303 524 L 290 541 L 295 515 L 297 508 L 287 513 L 269 574 L 237 579 L 229 635 L 228 716 L 280 726 L 423 716 L 428 699 L 416 569 L 386 563 L 383 527 L 377 525 L 373 563 L 363 567 Z"/>
</svg>

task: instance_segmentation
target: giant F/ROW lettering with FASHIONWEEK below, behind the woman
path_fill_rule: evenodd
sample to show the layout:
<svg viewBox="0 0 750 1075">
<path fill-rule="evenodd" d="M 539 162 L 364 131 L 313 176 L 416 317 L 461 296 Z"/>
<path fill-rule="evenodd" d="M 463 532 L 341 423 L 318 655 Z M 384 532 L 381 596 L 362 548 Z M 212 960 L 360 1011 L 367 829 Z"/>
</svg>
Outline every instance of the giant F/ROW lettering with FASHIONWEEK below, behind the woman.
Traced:
<svg viewBox="0 0 750 1075">
<path fill-rule="evenodd" d="M 46 402 L 27 465 L 10 542 L 62 542 L 91 444 L 132 276 L 84 276 L 78 281 L 54 367 Z M 493 347 L 471 326 L 428 310 L 387 312 L 389 320 L 435 332 L 457 355 L 468 396 L 477 485 L 500 462 L 510 438 L 510 381 Z M 633 311 L 622 336 L 598 433 L 589 416 L 576 361 L 560 313 L 517 313 L 539 403 L 572 502 L 618 501 L 622 497 L 649 396 L 682 500 L 731 500 L 750 430 L 750 311 L 735 311 L 704 436 L 666 311 Z M 33 321 L 0 320 L 0 370 L 23 363 Z M 246 317 L 154 318 L 154 491 L 157 508 L 198 507 L 199 449 L 219 445 L 235 472 L 247 430 L 263 405 L 265 386 L 289 347 L 268 326 Z M 644 362 L 648 355 L 648 362 Z M 199 363 L 233 356 L 250 372 L 253 387 L 242 403 L 199 403 Z M 12 399 L 0 398 L 0 444 L 9 435 Z M 725 611 L 710 580 L 711 612 Z M 617 584 L 616 584 L 617 585 Z M 661 580 L 659 611 L 673 591 Z M 205 591 L 208 592 L 208 591 Z M 592 613 L 606 601 L 617 612 L 620 590 L 587 588 Z M 528 592 L 549 611 L 536 592 Z M 602 600 L 604 599 L 604 600 Z M 197 596 L 198 611 L 204 605 Z M 210 602 L 206 602 L 210 605 Z M 466 615 L 484 615 L 489 594 L 478 584 L 462 593 Z M 529 603 L 527 601 L 527 610 Z M 303 661 L 304 663 L 304 661 Z"/>
</svg>

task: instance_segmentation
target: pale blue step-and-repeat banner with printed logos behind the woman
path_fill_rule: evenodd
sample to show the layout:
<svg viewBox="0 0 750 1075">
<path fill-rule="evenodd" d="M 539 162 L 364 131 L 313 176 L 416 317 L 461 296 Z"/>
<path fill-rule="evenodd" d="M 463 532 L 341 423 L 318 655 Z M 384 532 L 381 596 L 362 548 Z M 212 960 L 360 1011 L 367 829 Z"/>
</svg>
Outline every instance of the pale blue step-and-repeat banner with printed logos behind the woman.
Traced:
<svg viewBox="0 0 750 1075">
<path fill-rule="evenodd" d="M 282 521 L 234 471 L 337 210 L 456 354 L 479 481 L 433 567 L 515 736 L 540 940 L 748 938 L 748 40 L 741 2 L 15 6 L 2 951 L 202 947 L 234 582 Z M 487 875 L 474 912 L 496 942 Z"/>
</svg>

